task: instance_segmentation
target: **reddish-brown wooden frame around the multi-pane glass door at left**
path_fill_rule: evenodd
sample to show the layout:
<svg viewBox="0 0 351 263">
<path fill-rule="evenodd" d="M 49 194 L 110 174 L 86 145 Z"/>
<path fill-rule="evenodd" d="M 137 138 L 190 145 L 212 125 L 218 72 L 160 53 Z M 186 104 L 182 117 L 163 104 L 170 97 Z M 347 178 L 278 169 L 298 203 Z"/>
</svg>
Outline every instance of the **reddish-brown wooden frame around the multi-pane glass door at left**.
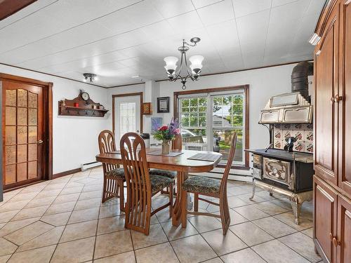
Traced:
<svg viewBox="0 0 351 263">
<path fill-rule="evenodd" d="M 43 113 L 44 113 L 44 180 L 51 180 L 53 178 L 53 83 L 52 82 L 44 82 L 44 81 L 38 81 L 36 79 L 29 79 L 29 78 L 25 78 L 22 76 L 14 76 L 11 74 L 4 74 L 4 73 L 0 73 L 0 87 L 2 86 L 2 81 L 12 81 L 12 82 L 18 82 L 18 83 L 26 83 L 26 84 L 31 84 L 34 86 L 40 86 L 43 88 L 43 97 L 44 97 L 44 109 L 43 109 Z M 3 103 L 3 100 L 5 98 L 5 89 L 4 87 L 1 88 L 1 103 L 3 104 L 1 107 L 1 111 L 2 111 L 2 115 L 1 115 L 1 135 L 3 135 L 3 131 L 4 131 L 4 107 L 5 104 Z M 4 137 L 3 137 L 4 140 Z M 1 141 L 2 143 L 2 141 Z M 4 149 L 5 144 L 2 144 L 2 147 L 0 149 L 0 156 L 1 156 L 1 173 L 5 174 L 5 166 L 4 163 L 2 162 L 2 156 L 4 154 Z M 4 187 L 4 190 L 7 189 L 15 189 L 18 187 L 22 187 L 25 184 L 31 184 L 31 182 L 29 183 L 18 183 L 17 186 L 13 187 L 13 188 L 8 188 L 5 187 L 5 185 L 3 185 L 3 180 L 4 178 L 0 177 L 0 184 Z"/>
</svg>

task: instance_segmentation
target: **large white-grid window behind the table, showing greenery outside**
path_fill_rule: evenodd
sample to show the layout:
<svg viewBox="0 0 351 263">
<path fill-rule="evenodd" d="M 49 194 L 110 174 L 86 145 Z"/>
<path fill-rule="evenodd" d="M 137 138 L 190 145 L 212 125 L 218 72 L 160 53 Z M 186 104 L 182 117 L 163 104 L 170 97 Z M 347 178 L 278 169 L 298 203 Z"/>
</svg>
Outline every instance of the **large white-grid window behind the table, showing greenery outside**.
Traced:
<svg viewBox="0 0 351 263">
<path fill-rule="evenodd" d="M 185 149 L 220 152 L 223 154 L 221 163 L 225 164 L 232 137 L 237 133 L 237 149 L 233 164 L 246 165 L 248 160 L 244 149 L 249 145 L 245 140 L 245 96 L 245 88 L 189 95 L 181 95 L 180 92 L 178 109 Z"/>
</svg>

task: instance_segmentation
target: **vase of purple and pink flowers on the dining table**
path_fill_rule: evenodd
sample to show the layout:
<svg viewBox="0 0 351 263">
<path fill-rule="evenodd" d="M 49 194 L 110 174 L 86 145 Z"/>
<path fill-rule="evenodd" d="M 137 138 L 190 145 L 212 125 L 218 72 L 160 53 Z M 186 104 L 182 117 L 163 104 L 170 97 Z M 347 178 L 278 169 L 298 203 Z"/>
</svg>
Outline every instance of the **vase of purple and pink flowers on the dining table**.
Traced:
<svg viewBox="0 0 351 263">
<path fill-rule="evenodd" d="M 176 138 L 176 135 L 180 134 L 178 120 L 172 118 L 171 123 L 161 127 L 154 127 L 154 130 L 157 130 L 154 133 L 154 139 L 162 142 L 162 154 L 169 154 L 170 142 Z"/>
</svg>

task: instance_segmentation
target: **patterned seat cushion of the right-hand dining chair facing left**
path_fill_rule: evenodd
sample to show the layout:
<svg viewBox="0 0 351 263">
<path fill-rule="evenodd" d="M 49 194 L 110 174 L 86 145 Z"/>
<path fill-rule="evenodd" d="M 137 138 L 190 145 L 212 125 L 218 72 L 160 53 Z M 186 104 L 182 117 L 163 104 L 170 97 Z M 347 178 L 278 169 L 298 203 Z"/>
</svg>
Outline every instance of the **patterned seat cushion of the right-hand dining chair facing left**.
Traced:
<svg viewBox="0 0 351 263">
<path fill-rule="evenodd" d="M 192 176 L 183 182 L 182 188 L 185 191 L 192 191 L 196 193 L 219 193 L 220 180 L 204 176 Z"/>
</svg>

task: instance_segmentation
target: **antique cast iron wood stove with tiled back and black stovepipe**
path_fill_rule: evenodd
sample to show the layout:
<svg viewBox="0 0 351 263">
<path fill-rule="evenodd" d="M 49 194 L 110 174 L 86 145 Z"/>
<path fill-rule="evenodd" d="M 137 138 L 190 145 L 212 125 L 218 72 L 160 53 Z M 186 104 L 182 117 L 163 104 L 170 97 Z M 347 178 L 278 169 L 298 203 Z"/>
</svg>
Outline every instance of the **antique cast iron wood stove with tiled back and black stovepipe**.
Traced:
<svg viewBox="0 0 351 263">
<path fill-rule="evenodd" d="M 246 149 L 253 154 L 250 199 L 254 198 L 256 187 L 269 191 L 270 195 L 286 196 L 291 201 L 296 224 L 300 224 L 302 203 L 312 200 L 313 109 L 307 81 L 312 72 L 310 62 L 298 63 L 293 68 L 292 93 L 271 97 L 260 114 L 260 123 L 270 130 L 270 146 Z M 289 137 L 294 138 L 292 152 L 284 151 Z"/>
</svg>

